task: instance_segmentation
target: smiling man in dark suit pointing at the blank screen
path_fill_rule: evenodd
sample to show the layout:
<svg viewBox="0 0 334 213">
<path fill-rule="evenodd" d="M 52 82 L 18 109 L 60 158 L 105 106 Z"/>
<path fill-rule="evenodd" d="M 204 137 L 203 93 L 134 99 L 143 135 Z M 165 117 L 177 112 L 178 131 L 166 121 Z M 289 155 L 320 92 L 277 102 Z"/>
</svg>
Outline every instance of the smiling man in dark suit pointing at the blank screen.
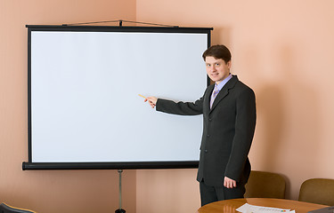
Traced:
<svg viewBox="0 0 334 213">
<path fill-rule="evenodd" d="M 208 77 L 215 82 L 202 98 L 178 102 L 148 97 L 151 107 L 168 114 L 203 114 L 200 145 L 201 205 L 242 198 L 250 173 L 248 152 L 256 125 L 254 91 L 231 75 L 231 52 L 214 45 L 203 53 Z"/>
</svg>

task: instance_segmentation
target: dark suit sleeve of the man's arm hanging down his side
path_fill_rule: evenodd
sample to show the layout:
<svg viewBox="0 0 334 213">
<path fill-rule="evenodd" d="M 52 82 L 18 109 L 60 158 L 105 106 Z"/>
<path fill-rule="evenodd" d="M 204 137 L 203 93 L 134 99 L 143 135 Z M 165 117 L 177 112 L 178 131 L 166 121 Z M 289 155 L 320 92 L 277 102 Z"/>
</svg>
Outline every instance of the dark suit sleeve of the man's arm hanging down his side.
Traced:
<svg viewBox="0 0 334 213">
<path fill-rule="evenodd" d="M 225 177 L 240 181 L 253 140 L 257 120 L 256 99 L 251 89 L 240 92 L 236 99 L 235 135 Z"/>
</svg>

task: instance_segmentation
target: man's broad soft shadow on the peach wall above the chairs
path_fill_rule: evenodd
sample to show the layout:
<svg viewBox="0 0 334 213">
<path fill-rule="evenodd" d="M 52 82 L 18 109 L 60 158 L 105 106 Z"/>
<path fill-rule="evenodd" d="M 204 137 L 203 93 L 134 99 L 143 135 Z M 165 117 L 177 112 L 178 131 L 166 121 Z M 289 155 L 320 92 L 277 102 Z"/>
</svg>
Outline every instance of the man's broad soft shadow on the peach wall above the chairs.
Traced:
<svg viewBox="0 0 334 213">
<path fill-rule="evenodd" d="M 292 45 L 283 45 L 276 56 L 273 53 L 273 70 L 278 72 L 280 83 L 264 85 L 257 91 L 257 111 L 263 128 L 258 131 L 263 134 L 261 146 L 265 152 L 261 154 L 261 167 L 292 177 L 295 183 L 297 178 L 303 181 L 314 177 L 321 157 L 317 95 L 312 82 L 305 83 L 313 79 L 313 74 L 305 73 L 296 50 Z M 296 196 L 297 192 L 293 193 Z"/>
</svg>

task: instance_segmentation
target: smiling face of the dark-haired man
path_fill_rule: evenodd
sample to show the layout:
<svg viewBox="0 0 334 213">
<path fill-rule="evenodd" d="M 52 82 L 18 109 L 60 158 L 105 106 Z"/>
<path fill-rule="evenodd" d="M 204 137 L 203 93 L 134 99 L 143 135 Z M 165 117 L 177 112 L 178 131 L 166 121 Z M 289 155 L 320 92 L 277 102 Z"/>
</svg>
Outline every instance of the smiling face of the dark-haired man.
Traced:
<svg viewBox="0 0 334 213">
<path fill-rule="evenodd" d="M 221 83 L 230 75 L 231 60 L 225 63 L 224 59 L 215 59 L 208 56 L 205 58 L 208 77 L 216 83 Z"/>
</svg>

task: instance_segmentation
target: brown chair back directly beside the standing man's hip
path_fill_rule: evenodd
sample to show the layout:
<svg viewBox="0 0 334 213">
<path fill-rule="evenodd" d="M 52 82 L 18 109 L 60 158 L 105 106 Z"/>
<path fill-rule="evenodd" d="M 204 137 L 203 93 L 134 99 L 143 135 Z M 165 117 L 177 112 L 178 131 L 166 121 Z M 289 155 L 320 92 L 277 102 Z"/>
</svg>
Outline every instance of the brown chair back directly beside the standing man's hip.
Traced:
<svg viewBox="0 0 334 213">
<path fill-rule="evenodd" d="M 245 198 L 285 198 L 285 179 L 266 171 L 250 171 Z"/>
</svg>

